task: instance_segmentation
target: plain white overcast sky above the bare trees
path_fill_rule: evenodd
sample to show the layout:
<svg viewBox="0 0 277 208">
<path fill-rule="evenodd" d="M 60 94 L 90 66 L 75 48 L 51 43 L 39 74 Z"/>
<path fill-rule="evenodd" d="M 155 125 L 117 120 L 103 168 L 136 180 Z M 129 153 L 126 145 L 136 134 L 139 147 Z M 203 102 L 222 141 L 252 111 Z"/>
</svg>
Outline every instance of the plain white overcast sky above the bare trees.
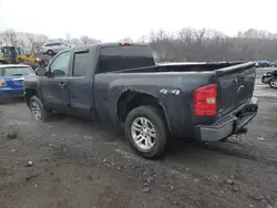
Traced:
<svg viewBox="0 0 277 208">
<path fill-rule="evenodd" d="M 277 0 L 0 0 L 0 31 L 51 38 L 134 40 L 160 28 L 211 28 L 235 35 L 248 28 L 277 33 Z"/>
</svg>

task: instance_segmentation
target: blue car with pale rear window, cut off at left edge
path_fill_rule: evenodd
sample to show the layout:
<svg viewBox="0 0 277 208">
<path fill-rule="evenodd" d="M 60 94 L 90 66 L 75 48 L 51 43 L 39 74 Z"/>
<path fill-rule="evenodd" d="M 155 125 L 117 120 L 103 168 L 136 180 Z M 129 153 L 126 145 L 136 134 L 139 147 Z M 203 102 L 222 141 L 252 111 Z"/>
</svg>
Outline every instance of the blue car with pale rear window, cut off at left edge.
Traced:
<svg viewBox="0 0 277 208">
<path fill-rule="evenodd" d="M 22 81 L 25 75 L 34 74 L 29 65 L 0 65 L 0 102 L 4 98 L 23 96 Z"/>
</svg>

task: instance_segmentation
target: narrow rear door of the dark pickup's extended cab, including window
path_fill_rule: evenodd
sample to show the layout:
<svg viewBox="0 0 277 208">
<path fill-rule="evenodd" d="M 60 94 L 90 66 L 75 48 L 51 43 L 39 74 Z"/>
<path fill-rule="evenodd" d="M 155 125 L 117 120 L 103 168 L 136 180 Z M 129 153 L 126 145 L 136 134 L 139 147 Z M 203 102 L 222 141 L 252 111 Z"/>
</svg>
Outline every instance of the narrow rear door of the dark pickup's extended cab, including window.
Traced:
<svg viewBox="0 0 277 208">
<path fill-rule="evenodd" d="M 94 61 L 92 50 L 75 49 L 69 79 L 70 107 L 92 111 L 94 108 L 93 81 Z"/>
</svg>

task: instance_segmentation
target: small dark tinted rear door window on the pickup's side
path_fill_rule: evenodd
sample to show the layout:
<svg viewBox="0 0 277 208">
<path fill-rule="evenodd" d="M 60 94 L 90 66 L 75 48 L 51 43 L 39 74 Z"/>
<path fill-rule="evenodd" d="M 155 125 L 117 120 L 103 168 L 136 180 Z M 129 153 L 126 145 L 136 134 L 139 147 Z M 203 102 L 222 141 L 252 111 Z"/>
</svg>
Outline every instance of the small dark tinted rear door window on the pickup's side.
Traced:
<svg viewBox="0 0 277 208">
<path fill-rule="evenodd" d="M 89 66 L 89 51 L 86 52 L 78 52 L 74 54 L 73 62 L 73 76 L 85 76 L 90 70 Z"/>
</svg>

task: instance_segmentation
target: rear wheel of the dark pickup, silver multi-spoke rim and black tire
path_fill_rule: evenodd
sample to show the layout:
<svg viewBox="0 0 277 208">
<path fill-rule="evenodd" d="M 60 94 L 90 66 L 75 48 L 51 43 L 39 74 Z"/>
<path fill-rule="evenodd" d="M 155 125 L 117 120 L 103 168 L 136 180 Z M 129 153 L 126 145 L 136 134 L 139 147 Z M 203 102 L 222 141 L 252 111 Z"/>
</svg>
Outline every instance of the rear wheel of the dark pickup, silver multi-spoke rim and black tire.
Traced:
<svg viewBox="0 0 277 208">
<path fill-rule="evenodd" d="M 144 124 L 147 123 L 147 125 L 145 126 L 148 126 L 148 128 L 146 127 L 146 129 L 144 129 L 146 132 L 142 131 L 143 122 L 140 122 L 142 121 L 142 118 L 144 121 L 147 121 L 144 122 Z M 142 128 L 134 127 L 135 124 L 138 125 L 140 123 L 142 124 Z M 137 128 L 140 128 L 140 131 L 137 131 Z M 155 137 L 150 137 L 150 132 L 152 132 L 152 135 L 155 135 Z M 140 139 L 142 142 L 140 143 L 140 145 L 137 144 L 138 142 L 135 142 L 135 138 L 133 136 L 136 135 L 136 133 L 138 135 L 145 134 L 144 136 L 147 137 L 143 138 L 141 136 Z M 131 147 L 136 152 L 136 154 L 147 159 L 158 158 L 164 153 L 168 136 L 168 128 L 163 112 L 157 107 L 150 105 L 143 105 L 132 110 L 127 114 L 125 119 L 125 135 Z M 146 139 L 148 142 L 146 142 Z"/>
</svg>

